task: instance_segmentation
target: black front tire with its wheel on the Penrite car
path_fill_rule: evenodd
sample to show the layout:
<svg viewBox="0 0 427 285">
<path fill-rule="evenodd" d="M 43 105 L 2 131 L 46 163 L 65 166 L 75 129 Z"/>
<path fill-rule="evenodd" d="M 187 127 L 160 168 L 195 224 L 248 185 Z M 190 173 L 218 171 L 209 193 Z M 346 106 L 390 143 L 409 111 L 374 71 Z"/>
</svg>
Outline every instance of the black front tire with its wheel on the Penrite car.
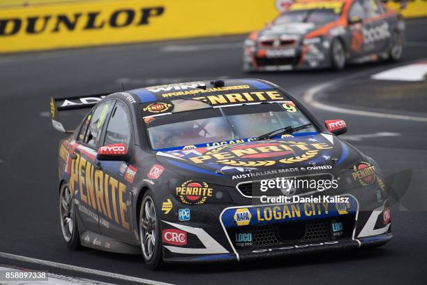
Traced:
<svg viewBox="0 0 427 285">
<path fill-rule="evenodd" d="M 153 210 L 149 211 L 150 217 L 147 219 L 145 208 L 146 208 L 146 204 L 149 203 L 150 200 L 151 200 L 151 205 L 153 206 Z M 155 222 L 153 222 L 152 220 L 153 213 L 155 214 L 155 217 L 154 217 L 156 219 Z M 140 241 L 141 241 L 142 256 L 150 270 L 159 270 L 164 266 L 163 252 L 162 252 L 162 239 L 161 239 L 161 231 L 160 231 L 160 219 L 158 219 L 158 217 L 160 217 L 160 213 L 157 210 L 156 198 L 154 197 L 151 190 L 147 190 L 144 193 L 144 197 L 142 198 L 142 203 L 140 207 L 139 225 L 140 225 Z M 143 222 L 143 220 L 148 221 L 148 223 Z M 153 232 L 154 224 L 156 226 L 156 228 L 154 229 L 155 233 Z M 151 256 L 150 256 L 150 251 L 148 247 L 149 247 L 149 243 L 151 242 L 152 244 L 153 242 L 151 238 L 145 238 L 147 234 L 150 237 L 151 236 L 155 237 L 155 242 L 152 247 L 153 249 L 151 250 L 152 252 Z M 147 243 L 146 243 L 146 240 L 148 240 Z"/>
</svg>

